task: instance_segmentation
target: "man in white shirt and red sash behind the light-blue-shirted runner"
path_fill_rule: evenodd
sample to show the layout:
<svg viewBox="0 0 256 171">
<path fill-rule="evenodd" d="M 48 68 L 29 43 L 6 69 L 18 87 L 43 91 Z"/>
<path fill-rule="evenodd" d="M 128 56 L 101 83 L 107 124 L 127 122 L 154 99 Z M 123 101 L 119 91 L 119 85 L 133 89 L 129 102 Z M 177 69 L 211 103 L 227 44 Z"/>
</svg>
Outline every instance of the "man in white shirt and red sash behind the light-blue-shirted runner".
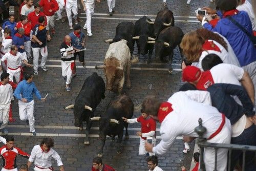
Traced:
<svg viewBox="0 0 256 171">
<path fill-rule="evenodd" d="M 1 60 L 7 60 L 7 73 L 10 74 L 10 80 L 13 81 L 13 77 L 15 77 L 17 83 L 20 81 L 20 72 L 22 71 L 19 60 L 22 60 L 27 67 L 31 67 L 15 45 L 11 46 L 11 51 L 6 53 Z"/>
</svg>

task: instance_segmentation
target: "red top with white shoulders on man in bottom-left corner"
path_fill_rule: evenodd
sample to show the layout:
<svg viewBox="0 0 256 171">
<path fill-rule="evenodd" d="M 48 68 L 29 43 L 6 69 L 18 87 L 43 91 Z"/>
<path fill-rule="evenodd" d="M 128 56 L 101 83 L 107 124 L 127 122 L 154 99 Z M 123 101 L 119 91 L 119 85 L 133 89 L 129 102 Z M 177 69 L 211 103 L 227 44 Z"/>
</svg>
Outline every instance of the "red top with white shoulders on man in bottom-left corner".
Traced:
<svg viewBox="0 0 256 171">
<path fill-rule="evenodd" d="M 29 154 L 23 152 L 21 149 L 17 147 L 13 147 L 9 149 L 7 145 L 4 145 L 0 148 L 0 153 L 3 160 L 3 167 L 6 169 L 14 169 L 17 168 L 16 157 L 19 154 L 20 156 L 29 158 Z"/>
</svg>

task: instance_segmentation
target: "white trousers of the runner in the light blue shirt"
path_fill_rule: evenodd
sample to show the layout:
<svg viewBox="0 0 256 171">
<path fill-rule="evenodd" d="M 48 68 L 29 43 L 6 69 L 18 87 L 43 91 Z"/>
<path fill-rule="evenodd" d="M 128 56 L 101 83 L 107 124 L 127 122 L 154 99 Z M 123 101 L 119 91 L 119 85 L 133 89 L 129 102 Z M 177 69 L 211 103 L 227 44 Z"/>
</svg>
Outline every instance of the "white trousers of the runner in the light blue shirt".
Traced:
<svg viewBox="0 0 256 171">
<path fill-rule="evenodd" d="M 29 120 L 30 132 L 35 132 L 34 103 L 34 100 L 27 103 L 18 100 L 19 119 L 23 121 Z"/>
</svg>

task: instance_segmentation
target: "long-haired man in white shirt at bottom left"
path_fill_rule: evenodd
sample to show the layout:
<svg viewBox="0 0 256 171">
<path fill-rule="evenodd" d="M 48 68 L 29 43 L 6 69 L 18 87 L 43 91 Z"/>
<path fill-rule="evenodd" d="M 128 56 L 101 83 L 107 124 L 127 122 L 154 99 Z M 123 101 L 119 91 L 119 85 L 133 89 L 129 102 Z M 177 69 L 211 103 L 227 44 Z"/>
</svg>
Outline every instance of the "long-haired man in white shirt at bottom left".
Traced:
<svg viewBox="0 0 256 171">
<path fill-rule="evenodd" d="M 52 138 L 44 138 L 41 144 L 35 145 L 32 149 L 31 155 L 28 161 L 28 167 L 34 162 L 35 171 L 52 171 L 52 157 L 57 161 L 57 165 L 60 167 L 60 171 L 65 171 L 63 163 L 57 152 L 52 149 L 54 145 Z"/>
</svg>

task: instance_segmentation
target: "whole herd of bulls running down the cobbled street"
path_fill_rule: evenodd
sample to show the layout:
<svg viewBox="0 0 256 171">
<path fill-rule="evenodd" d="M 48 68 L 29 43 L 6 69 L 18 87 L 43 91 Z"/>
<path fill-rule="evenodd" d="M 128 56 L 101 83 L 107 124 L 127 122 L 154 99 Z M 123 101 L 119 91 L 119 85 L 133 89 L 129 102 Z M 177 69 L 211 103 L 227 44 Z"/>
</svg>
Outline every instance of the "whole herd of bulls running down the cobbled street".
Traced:
<svg viewBox="0 0 256 171">
<path fill-rule="evenodd" d="M 99 141 L 100 151 L 98 156 L 103 155 L 103 147 L 106 136 L 112 137 L 114 141 L 117 139 L 117 153 L 122 152 L 120 146 L 123 137 L 123 129 L 125 127 L 125 138 L 129 138 L 127 132 L 128 124 L 122 120 L 122 117 L 131 119 L 135 110 L 133 101 L 126 95 L 121 95 L 124 76 L 126 73 L 127 88 L 131 87 L 130 69 L 131 63 L 138 61 L 138 57 L 148 53 L 147 63 L 150 63 L 155 44 L 156 57 L 162 62 L 168 62 L 166 56 L 169 56 L 170 66 L 172 65 L 173 50 L 183 38 L 183 32 L 180 28 L 174 26 L 173 12 L 167 7 L 157 13 L 155 22 L 143 16 L 135 24 L 132 22 L 121 22 L 116 28 L 116 35 L 113 39 L 105 40 L 110 46 L 106 52 L 104 63 L 102 66 L 95 66 L 95 69 L 103 69 L 106 78 L 106 85 L 102 77 L 94 72 L 83 83 L 81 91 L 75 99 L 75 103 L 67 106 L 65 109 L 73 109 L 75 116 L 75 126 L 79 130 L 83 128 L 83 121 L 87 122 L 86 138 L 84 144 L 88 145 L 89 131 L 92 121 L 99 121 Z M 134 44 L 137 44 L 138 55 L 132 55 Z M 179 47 L 180 49 L 180 47 Z M 183 60 L 180 49 L 181 58 Z M 169 73 L 172 67 L 169 68 Z M 105 90 L 118 93 L 117 96 L 109 104 L 106 114 L 102 117 L 94 117 L 94 111 L 101 99 L 104 99 Z"/>
</svg>

